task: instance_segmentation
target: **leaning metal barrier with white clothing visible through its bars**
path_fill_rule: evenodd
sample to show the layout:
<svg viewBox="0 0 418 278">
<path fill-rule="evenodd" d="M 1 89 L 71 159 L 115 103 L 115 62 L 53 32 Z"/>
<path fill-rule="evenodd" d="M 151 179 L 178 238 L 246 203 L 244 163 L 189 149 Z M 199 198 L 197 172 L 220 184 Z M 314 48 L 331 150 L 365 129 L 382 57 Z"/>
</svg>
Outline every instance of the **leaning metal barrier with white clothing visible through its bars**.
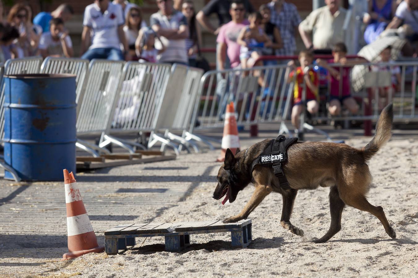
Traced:
<svg viewBox="0 0 418 278">
<path fill-rule="evenodd" d="M 100 147 L 114 143 L 133 153 L 134 147 L 143 149 L 146 147 L 138 142 L 117 138 L 115 134 L 138 135 L 140 132 L 150 132 L 150 140 L 155 139 L 167 144 L 178 154 L 176 145 L 154 134 L 168 80 L 171 78 L 170 71 L 171 65 L 169 64 L 126 63 L 122 78 L 120 78 L 115 106 L 110 114 L 112 120 L 107 123 Z M 181 79 L 180 76 L 177 78 Z"/>
</svg>

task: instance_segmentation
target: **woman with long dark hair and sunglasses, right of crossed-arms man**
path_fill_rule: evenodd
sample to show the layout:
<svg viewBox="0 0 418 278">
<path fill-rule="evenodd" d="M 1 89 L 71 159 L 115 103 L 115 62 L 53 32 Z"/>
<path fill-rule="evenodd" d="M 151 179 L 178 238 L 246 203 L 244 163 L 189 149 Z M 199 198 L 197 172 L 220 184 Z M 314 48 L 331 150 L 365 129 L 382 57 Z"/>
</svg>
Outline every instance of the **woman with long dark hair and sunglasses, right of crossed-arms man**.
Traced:
<svg viewBox="0 0 418 278">
<path fill-rule="evenodd" d="M 191 0 L 184 1 L 181 11 L 187 19 L 189 26 L 189 38 L 186 38 L 187 55 L 189 56 L 189 66 L 196 66 L 196 58 L 199 54 L 199 47 L 201 46 L 202 36 L 199 24 L 196 22 L 196 13 L 194 11 L 194 4 Z"/>
</svg>

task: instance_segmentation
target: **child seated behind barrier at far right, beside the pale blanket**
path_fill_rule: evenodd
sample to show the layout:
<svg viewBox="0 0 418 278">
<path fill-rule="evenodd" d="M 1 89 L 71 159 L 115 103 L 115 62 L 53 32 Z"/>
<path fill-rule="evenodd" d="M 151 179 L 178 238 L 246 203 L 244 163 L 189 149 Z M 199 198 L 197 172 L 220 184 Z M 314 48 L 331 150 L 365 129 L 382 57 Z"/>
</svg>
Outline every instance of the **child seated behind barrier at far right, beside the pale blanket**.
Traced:
<svg viewBox="0 0 418 278">
<path fill-rule="evenodd" d="M 390 58 L 390 52 L 392 51 L 392 46 L 387 46 L 387 48 L 383 49 L 380 52 L 380 63 L 393 63 L 393 60 Z M 395 91 L 400 91 L 400 83 L 402 82 L 400 76 L 400 67 L 399 66 L 390 66 L 390 65 L 376 65 L 371 66 L 372 71 L 390 71 L 392 74 L 392 88 Z M 382 110 L 387 104 L 389 104 L 389 94 L 392 91 L 389 90 L 388 87 L 379 88 L 379 103 L 378 107 L 379 110 Z"/>
</svg>

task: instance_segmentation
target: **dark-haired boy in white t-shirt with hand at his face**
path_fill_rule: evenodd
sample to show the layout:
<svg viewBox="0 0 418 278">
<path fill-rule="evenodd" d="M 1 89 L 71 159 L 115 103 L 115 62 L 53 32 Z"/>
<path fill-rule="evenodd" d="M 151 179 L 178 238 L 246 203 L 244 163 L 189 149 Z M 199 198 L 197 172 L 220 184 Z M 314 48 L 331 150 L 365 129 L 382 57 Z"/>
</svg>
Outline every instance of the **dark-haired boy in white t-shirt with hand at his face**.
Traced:
<svg viewBox="0 0 418 278">
<path fill-rule="evenodd" d="M 43 33 L 39 41 L 39 52 L 43 58 L 73 56 L 73 44 L 67 31 L 64 31 L 64 21 L 53 18 L 49 22 L 49 32 Z"/>
</svg>

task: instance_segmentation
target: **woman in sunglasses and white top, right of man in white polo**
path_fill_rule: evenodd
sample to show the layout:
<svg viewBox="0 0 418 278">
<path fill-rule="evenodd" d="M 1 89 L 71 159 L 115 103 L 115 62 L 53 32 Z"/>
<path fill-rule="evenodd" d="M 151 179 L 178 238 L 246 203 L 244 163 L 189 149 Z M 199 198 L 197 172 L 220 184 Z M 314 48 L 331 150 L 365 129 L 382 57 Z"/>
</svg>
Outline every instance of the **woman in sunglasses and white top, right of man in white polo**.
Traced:
<svg viewBox="0 0 418 278">
<path fill-rule="evenodd" d="M 145 20 L 143 20 L 142 11 L 139 7 L 131 7 L 126 16 L 126 23 L 123 26 L 126 40 L 129 46 L 129 54 L 133 60 L 138 60 L 135 55 L 135 41 L 138 38 L 139 30 L 146 27 Z"/>
</svg>

